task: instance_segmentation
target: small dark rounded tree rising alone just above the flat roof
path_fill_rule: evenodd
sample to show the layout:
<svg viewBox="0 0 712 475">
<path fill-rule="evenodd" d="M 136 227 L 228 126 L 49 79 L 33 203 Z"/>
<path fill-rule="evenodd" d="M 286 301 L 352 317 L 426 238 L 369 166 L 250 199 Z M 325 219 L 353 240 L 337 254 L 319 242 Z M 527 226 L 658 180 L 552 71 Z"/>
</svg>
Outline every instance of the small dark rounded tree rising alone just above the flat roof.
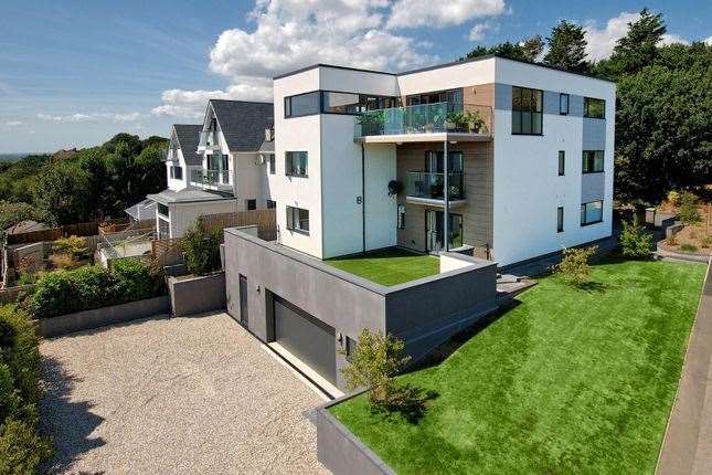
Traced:
<svg viewBox="0 0 712 475">
<path fill-rule="evenodd" d="M 586 39 L 584 29 L 580 25 L 562 20 L 551 30 L 551 36 L 546 38 L 546 42 L 549 43 L 549 52 L 544 56 L 546 64 L 574 72 L 588 70 Z"/>
</svg>

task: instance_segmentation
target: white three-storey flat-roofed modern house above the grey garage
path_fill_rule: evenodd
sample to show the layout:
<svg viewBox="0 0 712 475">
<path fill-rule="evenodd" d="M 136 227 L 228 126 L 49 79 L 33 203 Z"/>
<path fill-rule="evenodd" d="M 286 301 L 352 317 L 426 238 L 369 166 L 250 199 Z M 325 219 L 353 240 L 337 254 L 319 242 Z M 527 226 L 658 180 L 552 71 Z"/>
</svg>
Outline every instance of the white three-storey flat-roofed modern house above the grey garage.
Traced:
<svg viewBox="0 0 712 475">
<path fill-rule="evenodd" d="M 319 64 L 274 94 L 286 246 L 472 246 L 503 266 L 610 235 L 612 82 L 485 56 L 401 74 Z"/>
</svg>

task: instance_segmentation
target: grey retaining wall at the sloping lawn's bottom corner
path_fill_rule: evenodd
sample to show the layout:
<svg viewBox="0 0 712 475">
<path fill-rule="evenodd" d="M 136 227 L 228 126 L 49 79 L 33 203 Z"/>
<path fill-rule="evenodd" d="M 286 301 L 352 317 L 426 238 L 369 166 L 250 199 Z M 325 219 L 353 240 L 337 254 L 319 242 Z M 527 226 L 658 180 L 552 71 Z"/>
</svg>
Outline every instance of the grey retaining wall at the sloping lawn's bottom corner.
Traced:
<svg viewBox="0 0 712 475">
<path fill-rule="evenodd" d="M 395 474 L 385 462 L 329 413 L 329 408 L 353 397 L 337 399 L 316 410 L 319 462 L 334 475 Z"/>
</svg>

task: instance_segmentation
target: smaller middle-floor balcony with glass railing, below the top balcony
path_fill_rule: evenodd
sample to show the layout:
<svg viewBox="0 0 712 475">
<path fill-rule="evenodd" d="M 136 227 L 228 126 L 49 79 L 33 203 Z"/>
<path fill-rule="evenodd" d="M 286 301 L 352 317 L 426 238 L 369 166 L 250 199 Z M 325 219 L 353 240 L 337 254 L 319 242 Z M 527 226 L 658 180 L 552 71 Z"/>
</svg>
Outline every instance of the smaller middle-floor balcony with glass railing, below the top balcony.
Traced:
<svg viewBox="0 0 712 475">
<path fill-rule="evenodd" d="M 456 208 L 466 203 L 465 180 L 461 172 L 447 173 L 449 205 Z M 405 177 L 405 200 L 410 203 L 445 205 L 445 173 L 408 171 Z"/>
</svg>

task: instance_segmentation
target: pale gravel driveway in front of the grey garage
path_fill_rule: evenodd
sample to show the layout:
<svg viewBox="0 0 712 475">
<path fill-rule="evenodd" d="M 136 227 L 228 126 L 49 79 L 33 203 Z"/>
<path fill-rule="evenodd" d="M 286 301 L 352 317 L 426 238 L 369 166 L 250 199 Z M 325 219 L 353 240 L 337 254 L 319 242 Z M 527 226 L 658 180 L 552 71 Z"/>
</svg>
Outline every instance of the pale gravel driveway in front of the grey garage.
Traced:
<svg viewBox="0 0 712 475">
<path fill-rule="evenodd" d="M 54 473 L 326 473 L 323 400 L 225 314 L 45 340 Z"/>
</svg>

